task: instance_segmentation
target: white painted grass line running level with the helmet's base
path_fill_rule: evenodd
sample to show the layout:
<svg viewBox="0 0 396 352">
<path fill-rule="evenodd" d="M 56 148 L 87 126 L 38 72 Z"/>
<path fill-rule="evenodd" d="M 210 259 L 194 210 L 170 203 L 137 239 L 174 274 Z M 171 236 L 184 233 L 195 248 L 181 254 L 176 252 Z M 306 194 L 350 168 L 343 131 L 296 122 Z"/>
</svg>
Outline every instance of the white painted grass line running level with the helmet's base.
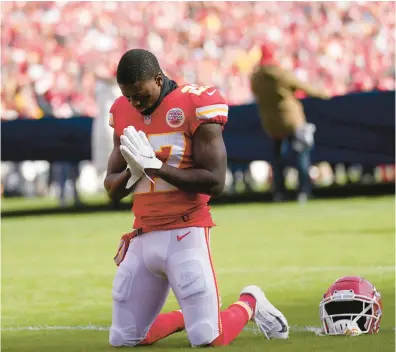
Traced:
<svg viewBox="0 0 396 352">
<path fill-rule="evenodd" d="M 92 330 L 92 331 L 109 331 L 109 326 L 98 326 L 98 325 L 77 325 L 77 326 L 50 326 L 50 325 L 38 325 L 38 326 L 16 326 L 1 329 L 1 331 L 48 331 L 48 330 Z M 320 328 L 313 326 L 290 326 L 290 331 L 293 332 L 314 332 L 315 334 L 320 332 Z M 261 334 L 258 328 L 245 327 L 243 331 L 251 332 L 254 334 Z"/>
</svg>

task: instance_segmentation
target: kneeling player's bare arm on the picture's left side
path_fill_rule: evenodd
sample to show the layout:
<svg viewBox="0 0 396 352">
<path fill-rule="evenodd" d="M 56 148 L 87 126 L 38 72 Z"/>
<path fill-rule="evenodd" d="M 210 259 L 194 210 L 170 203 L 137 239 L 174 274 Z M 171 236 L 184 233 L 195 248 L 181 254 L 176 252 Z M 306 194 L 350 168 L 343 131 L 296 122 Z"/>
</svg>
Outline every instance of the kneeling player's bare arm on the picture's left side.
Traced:
<svg viewBox="0 0 396 352">
<path fill-rule="evenodd" d="M 131 177 L 129 170 L 126 170 L 127 163 L 120 151 L 120 138 L 114 132 L 113 151 L 107 164 L 107 175 L 104 180 L 104 187 L 107 195 L 113 200 L 120 200 L 131 194 L 133 187 L 126 189 L 126 184 Z"/>
</svg>

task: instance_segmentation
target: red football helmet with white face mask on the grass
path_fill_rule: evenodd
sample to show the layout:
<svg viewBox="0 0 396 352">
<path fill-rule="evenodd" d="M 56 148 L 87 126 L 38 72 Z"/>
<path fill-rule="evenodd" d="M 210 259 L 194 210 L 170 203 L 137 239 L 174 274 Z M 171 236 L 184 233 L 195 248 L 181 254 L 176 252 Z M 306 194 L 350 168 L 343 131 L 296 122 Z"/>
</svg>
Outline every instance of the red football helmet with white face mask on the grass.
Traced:
<svg viewBox="0 0 396 352">
<path fill-rule="evenodd" d="M 344 335 L 356 325 L 361 333 L 375 334 L 382 317 L 381 295 L 366 279 L 345 276 L 323 295 L 319 315 L 326 335 Z"/>
</svg>

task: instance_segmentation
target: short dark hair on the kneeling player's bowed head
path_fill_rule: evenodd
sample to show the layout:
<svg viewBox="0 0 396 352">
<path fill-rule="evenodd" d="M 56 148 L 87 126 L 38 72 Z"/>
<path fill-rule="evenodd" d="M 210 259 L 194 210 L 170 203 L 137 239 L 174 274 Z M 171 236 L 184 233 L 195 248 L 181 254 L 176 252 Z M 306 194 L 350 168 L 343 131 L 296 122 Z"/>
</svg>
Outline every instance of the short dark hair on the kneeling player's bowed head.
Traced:
<svg viewBox="0 0 396 352">
<path fill-rule="evenodd" d="M 117 82 L 133 84 L 146 81 L 162 72 L 154 54 L 143 49 L 132 49 L 122 55 L 117 67 Z"/>
</svg>

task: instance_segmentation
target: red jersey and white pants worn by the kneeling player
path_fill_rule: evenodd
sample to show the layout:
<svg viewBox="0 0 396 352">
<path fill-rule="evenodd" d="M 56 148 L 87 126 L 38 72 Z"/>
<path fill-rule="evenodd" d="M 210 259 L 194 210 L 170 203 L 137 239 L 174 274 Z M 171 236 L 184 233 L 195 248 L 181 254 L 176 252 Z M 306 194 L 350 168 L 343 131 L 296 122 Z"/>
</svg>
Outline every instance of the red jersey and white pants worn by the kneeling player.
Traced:
<svg viewBox="0 0 396 352">
<path fill-rule="evenodd" d="M 194 167 L 192 139 L 202 123 L 227 122 L 228 106 L 213 87 L 185 85 L 164 98 L 149 117 L 124 97 L 111 108 L 118 136 L 133 125 L 142 130 L 159 159 L 178 168 Z M 143 177 L 135 189 L 134 228 L 113 284 L 110 344 L 135 346 L 147 335 L 172 288 L 183 311 L 192 345 L 203 346 L 220 334 L 219 295 L 209 248 L 209 196 L 186 193 L 156 178 Z"/>
</svg>

